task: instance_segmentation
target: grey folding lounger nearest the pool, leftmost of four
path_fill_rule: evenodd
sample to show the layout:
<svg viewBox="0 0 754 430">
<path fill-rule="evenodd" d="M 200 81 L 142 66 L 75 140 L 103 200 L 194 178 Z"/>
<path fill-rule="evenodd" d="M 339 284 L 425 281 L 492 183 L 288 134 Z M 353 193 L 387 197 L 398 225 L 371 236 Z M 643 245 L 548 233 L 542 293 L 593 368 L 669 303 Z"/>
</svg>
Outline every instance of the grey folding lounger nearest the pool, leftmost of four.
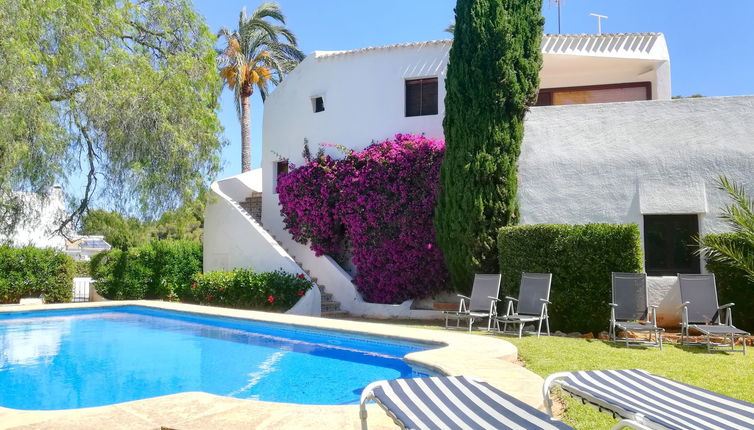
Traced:
<svg viewBox="0 0 754 430">
<path fill-rule="evenodd" d="M 490 329 L 490 319 L 494 317 L 494 303 L 500 294 L 499 274 L 474 276 L 474 285 L 471 288 L 471 297 L 459 294 L 458 311 L 445 311 L 445 328 L 448 328 L 448 320 L 456 320 L 456 328 L 460 327 L 461 320 L 469 321 L 469 331 L 474 321 L 487 318 L 487 330 Z M 468 301 L 468 304 L 466 303 Z"/>
</svg>

